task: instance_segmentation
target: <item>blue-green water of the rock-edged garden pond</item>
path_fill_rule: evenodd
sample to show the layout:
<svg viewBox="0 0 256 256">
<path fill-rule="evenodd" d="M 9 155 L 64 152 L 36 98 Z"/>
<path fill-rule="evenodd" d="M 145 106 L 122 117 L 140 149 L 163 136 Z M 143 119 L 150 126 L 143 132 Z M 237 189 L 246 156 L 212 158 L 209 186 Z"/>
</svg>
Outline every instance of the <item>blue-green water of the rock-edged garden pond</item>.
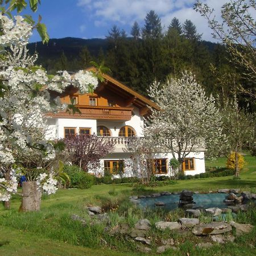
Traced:
<svg viewBox="0 0 256 256">
<path fill-rule="evenodd" d="M 194 194 L 193 199 L 195 201 L 195 207 L 200 208 L 226 208 L 228 205 L 224 203 L 228 194 L 226 193 L 209 193 L 209 194 Z M 159 196 L 155 198 L 142 198 L 140 199 L 140 207 L 155 209 L 156 202 L 163 202 L 165 205 L 160 206 L 166 210 L 174 210 L 179 207 L 180 195 L 168 195 L 168 196 Z"/>
</svg>

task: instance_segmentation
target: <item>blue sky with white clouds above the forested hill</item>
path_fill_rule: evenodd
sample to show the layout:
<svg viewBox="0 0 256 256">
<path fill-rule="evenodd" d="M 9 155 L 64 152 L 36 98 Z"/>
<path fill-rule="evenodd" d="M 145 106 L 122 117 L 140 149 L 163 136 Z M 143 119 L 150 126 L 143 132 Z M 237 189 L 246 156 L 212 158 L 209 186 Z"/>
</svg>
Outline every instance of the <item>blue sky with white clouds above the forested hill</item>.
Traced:
<svg viewBox="0 0 256 256">
<path fill-rule="evenodd" d="M 205 0 L 217 11 L 226 0 Z M 136 20 L 142 27 L 148 11 L 155 10 L 164 27 L 176 16 L 181 23 L 191 19 L 203 39 L 213 40 L 207 22 L 193 10 L 195 0 L 42 0 L 34 19 L 42 15 L 50 38 L 105 38 L 117 24 L 129 34 Z M 22 14 L 31 14 L 27 9 Z M 218 18 L 218 16 L 217 16 Z M 40 40 L 34 32 L 31 42 Z"/>
</svg>

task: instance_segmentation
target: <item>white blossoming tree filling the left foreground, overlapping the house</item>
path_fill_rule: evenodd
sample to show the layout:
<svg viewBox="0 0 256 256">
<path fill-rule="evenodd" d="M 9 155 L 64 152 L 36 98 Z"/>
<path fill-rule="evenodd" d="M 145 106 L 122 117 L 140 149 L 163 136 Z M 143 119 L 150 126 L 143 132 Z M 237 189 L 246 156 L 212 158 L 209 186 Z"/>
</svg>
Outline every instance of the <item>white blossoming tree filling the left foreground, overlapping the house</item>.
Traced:
<svg viewBox="0 0 256 256">
<path fill-rule="evenodd" d="M 30 1 L 33 11 L 37 9 L 37 3 Z M 10 18 L 9 11 L 22 10 L 26 1 L 1 1 L 0 4 L 0 171 L 3 174 L 0 179 L 0 201 L 8 202 L 11 193 L 17 191 L 16 174 L 20 168 L 16 166 L 20 154 L 39 154 L 44 160 L 55 158 L 59 145 L 46 139 L 46 114 L 67 106 L 61 105 L 59 98 L 50 97 L 49 91 L 62 92 L 67 86 L 73 85 L 81 93 L 86 93 L 97 86 L 98 80 L 93 73 L 84 71 L 73 76 L 66 71 L 55 76 L 48 75 L 42 67 L 36 66 L 37 56 L 29 56 L 26 45 L 33 28 L 37 28 L 43 42 L 47 42 L 45 26 L 40 20 L 35 24 L 30 16 L 26 16 L 26 19 L 19 15 Z M 75 111 L 72 105 L 69 108 Z M 57 180 L 52 168 L 35 177 L 34 183 L 26 184 L 29 186 L 27 197 L 38 192 L 35 181 L 48 194 L 55 193 Z M 35 198 L 40 199 L 40 195 Z M 6 207 L 9 206 L 6 204 Z M 30 210 L 30 207 L 26 209 Z"/>
</svg>

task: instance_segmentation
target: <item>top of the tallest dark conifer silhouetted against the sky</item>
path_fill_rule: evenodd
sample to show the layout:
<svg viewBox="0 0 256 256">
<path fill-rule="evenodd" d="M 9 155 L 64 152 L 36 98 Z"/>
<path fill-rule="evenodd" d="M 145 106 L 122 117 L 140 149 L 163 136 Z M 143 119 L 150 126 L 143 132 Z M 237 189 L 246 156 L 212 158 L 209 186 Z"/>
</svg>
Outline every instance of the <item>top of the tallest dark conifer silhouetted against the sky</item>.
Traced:
<svg viewBox="0 0 256 256">
<path fill-rule="evenodd" d="M 145 25 L 142 29 L 142 37 L 151 39 L 161 38 L 163 28 L 160 17 L 155 13 L 155 11 L 151 10 L 147 13 L 144 21 Z"/>
</svg>

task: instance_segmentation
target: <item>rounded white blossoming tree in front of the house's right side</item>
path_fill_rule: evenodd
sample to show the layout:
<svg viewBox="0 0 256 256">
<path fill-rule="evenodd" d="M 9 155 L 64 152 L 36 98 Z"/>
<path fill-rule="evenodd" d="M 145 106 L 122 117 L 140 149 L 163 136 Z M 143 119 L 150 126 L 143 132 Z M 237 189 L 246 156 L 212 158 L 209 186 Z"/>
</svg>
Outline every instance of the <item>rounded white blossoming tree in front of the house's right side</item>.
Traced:
<svg viewBox="0 0 256 256">
<path fill-rule="evenodd" d="M 149 95 L 160 110 L 151 109 L 144 134 L 155 141 L 155 147 L 170 151 L 182 163 L 190 152 L 196 152 L 205 139 L 207 154 L 213 154 L 221 136 L 220 114 L 212 96 L 197 84 L 190 72 L 180 79 L 154 82 Z"/>
</svg>

